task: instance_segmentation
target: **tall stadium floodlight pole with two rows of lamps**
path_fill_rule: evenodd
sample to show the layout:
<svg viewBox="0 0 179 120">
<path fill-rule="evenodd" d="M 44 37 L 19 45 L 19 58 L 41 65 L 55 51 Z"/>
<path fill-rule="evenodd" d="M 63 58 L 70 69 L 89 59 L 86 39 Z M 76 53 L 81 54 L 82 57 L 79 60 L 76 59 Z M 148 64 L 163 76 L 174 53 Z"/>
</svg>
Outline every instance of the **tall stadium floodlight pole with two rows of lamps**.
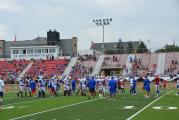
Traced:
<svg viewBox="0 0 179 120">
<path fill-rule="evenodd" d="M 112 18 L 93 19 L 93 22 L 94 22 L 97 26 L 102 26 L 102 28 L 103 28 L 103 53 L 104 53 L 104 52 L 105 52 L 105 48 L 104 48 L 104 26 L 110 25 L 110 23 L 112 22 Z"/>
</svg>

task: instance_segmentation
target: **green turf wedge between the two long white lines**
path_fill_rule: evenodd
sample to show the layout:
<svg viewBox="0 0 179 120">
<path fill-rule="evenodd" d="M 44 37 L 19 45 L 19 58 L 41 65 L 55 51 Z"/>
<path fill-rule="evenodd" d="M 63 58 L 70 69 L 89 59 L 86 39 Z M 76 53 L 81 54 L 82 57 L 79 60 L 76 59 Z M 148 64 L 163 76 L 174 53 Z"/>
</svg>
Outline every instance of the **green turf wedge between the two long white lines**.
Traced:
<svg viewBox="0 0 179 120">
<path fill-rule="evenodd" d="M 152 99 L 145 100 L 143 96 L 119 95 L 115 100 L 108 100 L 107 98 L 96 100 L 93 102 L 83 103 L 65 109 L 58 109 L 35 116 L 30 116 L 24 119 L 39 118 L 43 120 L 124 120 L 137 110 L 151 102 Z M 137 106 L 133 110 L 124 110 L 124 106 Z"/>
</svg>

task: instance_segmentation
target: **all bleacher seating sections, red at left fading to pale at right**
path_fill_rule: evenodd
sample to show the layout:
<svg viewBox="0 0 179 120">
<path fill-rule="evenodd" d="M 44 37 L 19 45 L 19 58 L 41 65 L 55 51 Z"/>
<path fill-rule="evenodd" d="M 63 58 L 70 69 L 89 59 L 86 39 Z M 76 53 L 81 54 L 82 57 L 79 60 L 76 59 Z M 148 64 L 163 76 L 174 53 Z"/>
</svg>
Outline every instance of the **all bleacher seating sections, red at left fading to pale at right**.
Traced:
<svg viewBox="0 0 179 120">
<path fill-rule="evenodd" d="M 177 73 L 179 71 L 179 53 L 165 53 L 165 73 Z M 147 72 L 156 72 L 158 63 L 158 53 L 151 54 L 135 54 L 135 60 L 132 64 L 132 72 L 139 76 Z M 103 66 L 117 66 L 125 69 L 128 54 L 112 54 L 105 55 Z M 90 55 L 80 56 L 69 75 L 75 77 L 86 76 L 93 72 L 97 63 L 98 56 L 95 58 Z M 35 60 L 31 68 L 25 75 L 38 76 L 43 73 L 45 76 L 53 74 L 61 75 L 69 64 L 69 59 L 48 59 Z M 13 81 L 27 67 L 30 60 L 11 60 L 0 61 L 0 76 L 7 81 Z"/>
</svg>

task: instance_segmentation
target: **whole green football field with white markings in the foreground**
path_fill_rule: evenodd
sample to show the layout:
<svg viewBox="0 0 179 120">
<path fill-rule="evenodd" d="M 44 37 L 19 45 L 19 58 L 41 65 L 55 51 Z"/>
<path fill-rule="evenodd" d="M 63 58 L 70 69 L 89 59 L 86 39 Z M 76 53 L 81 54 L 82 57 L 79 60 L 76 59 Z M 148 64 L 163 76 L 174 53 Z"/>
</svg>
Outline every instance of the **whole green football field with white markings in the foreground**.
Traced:
<svg viewBox="0 0 179 120">
<path fill-rule="evenodd" d="M 127 91 L 114 100 L 107 97 L 62 96 L 17 98 L 16 92 L 6 92 L 0 120 L 177 120 L 179 96 L 175 88 L 161 89 L 155 97 L 144 97 L 142 89 L 136 95 Z"/>
</svg>

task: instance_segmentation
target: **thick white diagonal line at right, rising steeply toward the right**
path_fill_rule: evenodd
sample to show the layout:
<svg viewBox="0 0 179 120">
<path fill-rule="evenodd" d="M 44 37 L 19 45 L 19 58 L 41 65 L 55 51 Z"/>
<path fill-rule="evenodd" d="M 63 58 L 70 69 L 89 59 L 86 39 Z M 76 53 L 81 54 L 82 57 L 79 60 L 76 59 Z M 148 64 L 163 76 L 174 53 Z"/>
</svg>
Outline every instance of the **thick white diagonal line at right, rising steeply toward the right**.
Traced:
<svg viewBox="0 0 179 120">
<path fill-rule="evenodd" d="M 152 101 L 150 104 L 148 104 L 147 106 L 145 106 L 144 108 L 142 108 L 141 110 L 139 110 L 138 112 L 136 112 L 135 114 L 133 114 L 132 116 L 130 116 L 129 118 L 127 118 L 126 120 L 131 120 L 132 118 L 134 118 L 135 116 L 137 116 L 139 113 L 141 113 L 142 111 L 144 111 L 146 108 L 148 108 L 149 106 L 151 106 L 153 103 L 157 102 L 158 100 L 162 99 L 164 96 L 172 93 L 172 91 L 162 95 L 161 97 L 157 98 L 156 100 Z"/>
</svg>

